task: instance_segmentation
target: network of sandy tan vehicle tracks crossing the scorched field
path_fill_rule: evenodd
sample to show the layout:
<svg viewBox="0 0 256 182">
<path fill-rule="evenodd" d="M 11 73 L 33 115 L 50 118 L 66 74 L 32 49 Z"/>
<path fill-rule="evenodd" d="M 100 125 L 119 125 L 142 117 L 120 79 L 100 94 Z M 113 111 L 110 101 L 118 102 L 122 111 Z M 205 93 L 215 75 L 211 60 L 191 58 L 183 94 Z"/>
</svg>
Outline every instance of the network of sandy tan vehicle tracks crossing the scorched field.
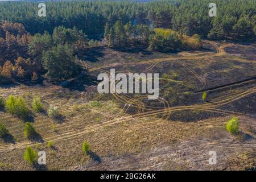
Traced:
<svg viewBox="0 0 256 182">
<path fill-rule="evenodd" d="M 182 61 L 180 61 L 180 60 L 199 60 L 199 59 L 207 59 L 208 57 L 221 56 L 222 53 L 225 53 L 224 48 L 227 46 L 231 46 L 231 44 L 227 44 L 225 46 L 219 47 L 218 52 L 220 52 L 220 53 L 212 53 L 207 56 L 205 56 L 205 55 L 202 56 L 200 53 L 198 53 L 198 54 L 192 55 L 192 56 L 189 55 L 189 56 L 183 56 L 183 57 L 153 59 L 153 60 L 141 61 L 138 63 L 114 63 L 114 64 L 109 64 L 109 65 L 104 65 L 104 66 L 101 66 L 98 68 L 93 68 L 92 66 L 85 64 L 83 61 L 79 61 L 79 63 L 83 67 L 89 69 L 89 72 L 101 71 L 101 72 L 105 72 L 105 73 L 109 74 L 109 72 L 106 72 L 104 70 L 104 68 L 113 68 L 113 67 L 117 67 L 119 65 L 151 64 L 150 67 L 147 68 L 147 71 L 149 71 L 150 69 L 154 68 L 156 64 L 158 64 L 160 62 L 179 60 L 180 64 L 182 64 L 185 68 L 189 69 L 189 71 L 191 71 L 193 73 L 193 75 L 195 75 L 195 77 L 197 77 L 199 79 L 200 82 L 205 84 L 205 80 L 201 76 L 199 76 L 195 71 L 193 71 L 193 69 L 189 68 L 187 65 L 182 63 Z M 72 80 L 69 80 L 69 81 L 72 81 Z M 68 83 L 68 81 L 67 81 L 67 83 Z M 58 89 L 61 89 L 61 86 L 52 86 L 52 88 L 47 89 L 47 92 L 46 92 L 46 90 L 42 90 L 42 92 L 44 92 L 44 93 L 42 93 L 42 97 L 45 97 L 48 94 L 51 94 Z M 200 143 L 203 145 L 215 146 L 215 147 L 256 148 L 256 143 L 225 143 L 225 142 L 219 142 L 219 143 L 217 142 L 216 143 L 216 142 L 212 142 L 212 141 L 204 140 L 204 139 L 189 138 L 184 135 L 180 135 L 179 133 L 177 133 L 177 131 L 170 132 L 168 130 L 159 129 L 158 127 L 152 127 L 152 126 L 148 127 L 148 126 L 142 125 L 141 123 L 137 122 L 138 121 L 137 119 L 143 119 L 146 117 L 152 117 L 156 114 L 162 114 L 162 118 L 156 119 L 156 121 L 155 121 L 155 123 L 158 123 L 159 121 L 161 121 L 161 119 L 164 120 L 164 119 L 167 119 L 168 117 L 170 117 L 171 112 L 181 111 L 181 110 L 204 110 L 204 111 L 209 111 L 209 112 L 213 112 L 213 113 L 247 115 L 249 117 L 256 117 L 254 115 L 248 115 L 248 114 L 242 114 L 242 113 L 236 113 L 233 111 L 226 111 L 226 110 L 218 109 L 218 107 L 220 107 L 220 106 L 226 105 L 226 104 L 236 101 L 236 100 L 239 100 L 243 97 L 249 96 L 250 94 L 254 94 L 255 92 L 256 92 L 256 87 L 246 90 L 245 92 L 242 92 L 242 93 L 233 94 L 232 96 L 229 96 L 225 100 L 215 101 L 214 105 L 213 104 L 201 104 L 201 105 L 170 107 L 168 105 L 168 102 L 159 98 L 159 102 L 162 102 L 164 105 L 163 109 L 159 109 L 158 107 L 144 105 L 142 101 L 139 101 L 136 98 L 131 98 L 131 97 L 127 96 L 126 94 L 115 93 L 115 94 L 113 94 L 113 96 L 118 101 L 122 102 L 123 104 L 128 104 L 129 106 L 127 108 L 129 108 L 130 106 L 137 107 L 138 108 L 137 113 L 135 113 L 133 115 L 127 115 L 124 112 L 120 116 L 118 116 L 114 119 L 110 119 L 109 121 L 106 121 L 101 124 L 95 124 L 92 126 L 84 127 L 84 129 L 81 129 L 81 130 L 71 130 L 71 131 L 67 131 L 66 133 L 62 133 L 61 135 L 57 135 L 57 136 L 54 135 L 54 136 L 44 138 L 44 142 L 49 142 L 50 140 L 52 140 L 52 141 L 69 140 L 72 138 L 80 137 L 81 135 L 84 135 L 85 133 L 90 133 L 90 132 L 102 129 L 104 127 L 108 127 L 108 126 L 116 125 L 118 123 L 129 121 L 129 122 L 134 123 L 134 125 L 141 126 L 145 129 L 152 130 L 156 133 L 166 135 L 166 137 L 174 138 L 174 139 L 177 139 L 180 141 L 191 142 L 191 143 Z M 208 127 L 209 127 L 209 125 L 208 125 Z M 25 148 L 27 146 L 35 146 L 35 145 L 36 145 L 36 143 L 30 142 L 30 141 L 23 141 L 23 142 L 19 142 L 17 144 L 4 144 L 4 145 L 0 146 L 0 152 L 6 152 L 6 151 L 14 150 L 14 149 L 21 149 L 21 148 Z"/>
</svg>

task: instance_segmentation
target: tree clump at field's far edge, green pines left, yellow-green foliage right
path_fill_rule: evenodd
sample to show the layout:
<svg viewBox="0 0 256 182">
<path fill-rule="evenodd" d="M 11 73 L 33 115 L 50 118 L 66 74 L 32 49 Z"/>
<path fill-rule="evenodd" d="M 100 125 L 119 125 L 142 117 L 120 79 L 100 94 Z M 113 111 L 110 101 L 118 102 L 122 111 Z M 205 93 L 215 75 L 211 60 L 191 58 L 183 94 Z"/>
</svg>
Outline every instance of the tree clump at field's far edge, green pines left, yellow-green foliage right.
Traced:
<svg viewBox="0 0 256 182">
<path fill-rule="evenodd" d="M 123 24 L 117 20 L 114 24 L 106 23 L 104 40 L 109 47 L 147 46 L 153 51 L 170 51 L 174 49 L 197 49 L 200 36 L 192 37 L 168 28 L 150 28 L 145 24 Z"/>
</svg>

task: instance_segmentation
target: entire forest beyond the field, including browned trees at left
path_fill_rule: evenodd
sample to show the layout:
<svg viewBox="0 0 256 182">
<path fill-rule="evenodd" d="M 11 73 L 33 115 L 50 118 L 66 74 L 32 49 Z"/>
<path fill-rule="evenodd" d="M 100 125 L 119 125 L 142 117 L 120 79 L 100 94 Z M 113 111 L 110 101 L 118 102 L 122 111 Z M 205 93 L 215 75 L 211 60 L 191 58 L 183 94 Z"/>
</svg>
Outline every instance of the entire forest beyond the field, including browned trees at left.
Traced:
<svg viewBox="0 0 256 182">
<path fill-rule="evenodd" d="M 255 0 L 213 2 L 213 18 L 207 0 L 46 2 L 46 17 L 36 2 L 0 2 L 0 83 L 65 80 L 81 71 L 77 56 L 102 45 L 170 51 L 197 49 L 201 38 L 255 39 Z"/>
</svg>

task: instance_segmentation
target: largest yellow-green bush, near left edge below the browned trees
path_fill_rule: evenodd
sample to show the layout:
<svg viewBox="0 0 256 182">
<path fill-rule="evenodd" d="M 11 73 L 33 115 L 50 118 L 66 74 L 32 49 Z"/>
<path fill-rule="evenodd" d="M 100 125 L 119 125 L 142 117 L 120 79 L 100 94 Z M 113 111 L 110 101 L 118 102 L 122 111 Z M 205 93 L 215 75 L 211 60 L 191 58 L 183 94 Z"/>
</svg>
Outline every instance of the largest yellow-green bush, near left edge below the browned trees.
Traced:
<svg viewBox="0 0 256 182">
<path fill-rule="evenodd" d="M 22 97 L 15 98 L 10 95 L 5 102 L 5 107 L 9 113 L 22 119 L 27 118 L 30 113 Z"/>
</svg>

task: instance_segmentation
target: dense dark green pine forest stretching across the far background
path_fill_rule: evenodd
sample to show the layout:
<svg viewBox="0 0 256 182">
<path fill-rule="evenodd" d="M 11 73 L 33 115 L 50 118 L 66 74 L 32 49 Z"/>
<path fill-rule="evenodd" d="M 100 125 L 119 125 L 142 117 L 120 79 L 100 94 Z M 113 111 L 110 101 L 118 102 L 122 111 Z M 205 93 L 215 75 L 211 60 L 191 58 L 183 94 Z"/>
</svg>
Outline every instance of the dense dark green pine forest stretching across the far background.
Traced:
<svg viewBox="0 0 256 182">
<path fill-rule="evenodd" d="M 217 5 L 217 17 L 210 18 L 208 5 Z M 22 23 L 30 34 L 57 26 L 76 26 L 86 35 L 102 38 L 106 23 L 146 24 L 171 28 L 182 34 L 201 38 L 255 38 L 255 0 L 172 0 L 148 3 L 114 1 L 46 2 L 47 16 L 38 16 L 36 2 L 1 2 L 0 20 Z"/>
</svg>

